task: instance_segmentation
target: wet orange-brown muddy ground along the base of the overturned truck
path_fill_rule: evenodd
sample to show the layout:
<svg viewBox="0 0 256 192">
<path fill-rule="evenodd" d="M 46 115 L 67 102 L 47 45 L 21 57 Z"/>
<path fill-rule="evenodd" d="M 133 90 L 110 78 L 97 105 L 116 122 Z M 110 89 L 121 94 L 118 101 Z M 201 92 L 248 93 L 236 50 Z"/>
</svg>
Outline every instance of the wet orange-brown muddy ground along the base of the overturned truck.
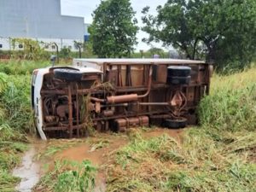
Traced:
<svg viewBox="0 0 256 192">
<path fill-rule="evenodd" d="M 143 131 L 133 129 L 121 134 L 96 133 L 93 137 L 49 139 L 47 142 L 31 138 L 31 145 L 23 155 L 21 165 L 16 167 L 13 172 L 13 175 L 21 178 L 16 189 L 20 192 L 32 191 L 40 177 L 53 169 L 56 160 L 74 160 L 78 162 L 90 160 L 98 168 L 95 191 L 105 191 L 106 173 L 102 172 L 101 167 L 107 162 L 109 163 L 109 154 L 124 147 L 131 141 L 131 137 L 136 134 L 139 134 L 143 139 L 167 134 L 180 140 L 182 131 L 160 128 L 144 129 Z"/>
</svg>

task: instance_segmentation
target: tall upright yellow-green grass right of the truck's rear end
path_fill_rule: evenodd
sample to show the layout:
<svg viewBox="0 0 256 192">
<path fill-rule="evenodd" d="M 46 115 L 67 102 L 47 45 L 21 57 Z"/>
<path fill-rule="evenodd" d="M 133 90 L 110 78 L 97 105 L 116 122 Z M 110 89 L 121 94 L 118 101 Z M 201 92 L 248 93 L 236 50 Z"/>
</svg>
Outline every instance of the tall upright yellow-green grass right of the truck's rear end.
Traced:
<svg viewBox="0 0 256 192">
<path fill-rule="evenodd" d="M 210 96 L 201 101 L 202 126 L 219 131 L 256 130 L 256 68 L 230 76 L 215 75 Z"/>
</svg>

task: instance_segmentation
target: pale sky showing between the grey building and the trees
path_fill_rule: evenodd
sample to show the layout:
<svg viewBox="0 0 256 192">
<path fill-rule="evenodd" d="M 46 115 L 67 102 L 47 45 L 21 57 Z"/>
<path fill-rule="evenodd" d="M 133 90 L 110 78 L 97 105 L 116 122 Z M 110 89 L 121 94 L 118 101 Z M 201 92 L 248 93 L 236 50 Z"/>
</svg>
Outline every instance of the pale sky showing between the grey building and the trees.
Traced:
<svg viewBox="0 0 256 192">
<path fill-rule="evenodd" d="M 136 18 L 138 20 L 138 26 L 142 25 L 142 10 L 144 7 L 150 7 L 150 14 L 156 15 L 156 7 L 158 5 L 164 5 L 167 0 L 131 0 L 132 8 L 137 12 Z M 92 22 L 92 12 L 101 3 L 101 0 L 61 0 L 61 15 L 73 15 L 84 17 L 84 23 Z M 138 44 L 135 47 L 138 50 L 148 50 L 150 46 L 142 42 L 142 39 L 148 37 L 146 32 L 137 33 Z M 154 44 L 155 47 L 161 48 L 161 44 Z"/>
</svg>

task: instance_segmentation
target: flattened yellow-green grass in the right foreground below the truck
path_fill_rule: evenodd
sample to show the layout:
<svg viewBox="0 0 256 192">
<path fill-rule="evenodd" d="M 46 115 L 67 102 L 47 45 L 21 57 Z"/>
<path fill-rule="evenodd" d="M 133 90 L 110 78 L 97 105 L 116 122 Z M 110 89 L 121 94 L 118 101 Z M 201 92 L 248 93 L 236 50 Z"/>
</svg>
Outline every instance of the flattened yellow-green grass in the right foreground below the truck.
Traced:
<svg viewBox="0 0 256 192">
<path fill-rule="evenodd" d="M 253 191 L 256 164 L 249 154 L 255 138 L 250 133 L 218 143 L 197 128 L 185 132 L 183 143 L 168 136 L 137 138 L 106 166 L 108 191 Z"/>
</svg>

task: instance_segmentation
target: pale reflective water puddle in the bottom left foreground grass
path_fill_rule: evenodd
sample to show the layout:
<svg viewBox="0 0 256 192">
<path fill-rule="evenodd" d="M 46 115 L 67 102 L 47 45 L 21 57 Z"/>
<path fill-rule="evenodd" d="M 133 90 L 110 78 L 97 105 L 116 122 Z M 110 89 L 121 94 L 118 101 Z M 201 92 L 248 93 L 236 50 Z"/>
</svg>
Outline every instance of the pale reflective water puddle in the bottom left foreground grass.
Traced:
<svg viewBox="0 0 256 192">
<path fill-rule="evenodd" d="M 34 160 L 38 150 L 44 148 L 44 143 L 32 143 L 29 149 L 22 157 L 20 166 L 15 167 L 13 175 L 20 177 L 20 183 L 15 187 L 20 192 L 31 192 L 32 188 L 38 183 L 42 176 L 41 164 L 37 160 Z"/>
</svg>

